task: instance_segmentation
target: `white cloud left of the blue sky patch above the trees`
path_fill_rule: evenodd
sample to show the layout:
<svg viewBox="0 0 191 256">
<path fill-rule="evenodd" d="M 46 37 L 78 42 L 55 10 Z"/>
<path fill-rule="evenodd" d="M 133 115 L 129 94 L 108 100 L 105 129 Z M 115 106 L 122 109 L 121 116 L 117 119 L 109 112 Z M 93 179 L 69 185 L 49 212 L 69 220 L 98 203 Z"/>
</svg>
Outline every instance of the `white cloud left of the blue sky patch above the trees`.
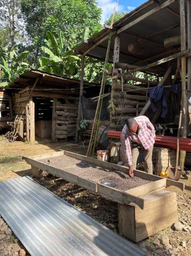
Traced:
<svg viewBox="0 0 191 256">
<path fill-rule="evenodd" d="M 104 24 L 104 21 L 107 20 L 113 13 L 115 0 L 97 0 L 97 2 L 99 4 L 99 7 L 102 8 L 101 24 Z M 124 11 L 123 5 L 117 4 L 116 10 L 123 12 Z"/>
</svg>

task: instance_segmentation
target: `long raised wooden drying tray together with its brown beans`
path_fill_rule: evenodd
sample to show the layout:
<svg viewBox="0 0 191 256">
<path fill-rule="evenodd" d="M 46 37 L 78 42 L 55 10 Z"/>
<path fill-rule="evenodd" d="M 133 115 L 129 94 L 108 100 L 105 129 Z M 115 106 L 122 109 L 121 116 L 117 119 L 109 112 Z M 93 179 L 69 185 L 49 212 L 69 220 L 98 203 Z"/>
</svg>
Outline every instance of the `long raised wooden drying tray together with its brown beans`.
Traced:
<svg viewBox="0 0 191 256">
<path fill-rule="evenodd" d="M 134 170 L 134 177 L 130 178 L 127 167 L 68 151 L 23 157 L 23 159 L 31 165 L 31 173 L 36 177 L 39 177 L 41 170 L 45 170 L 120 204 L 134 203 L 141 209 L 144 208 L 144 198 L 142 197 L 148 193 L 170 185 L 175 185 L 183 190 L 183 183 L 139 170 Z M 103 182 L 113 182 L 116 186 L 109 187 Z"/>
</svg>

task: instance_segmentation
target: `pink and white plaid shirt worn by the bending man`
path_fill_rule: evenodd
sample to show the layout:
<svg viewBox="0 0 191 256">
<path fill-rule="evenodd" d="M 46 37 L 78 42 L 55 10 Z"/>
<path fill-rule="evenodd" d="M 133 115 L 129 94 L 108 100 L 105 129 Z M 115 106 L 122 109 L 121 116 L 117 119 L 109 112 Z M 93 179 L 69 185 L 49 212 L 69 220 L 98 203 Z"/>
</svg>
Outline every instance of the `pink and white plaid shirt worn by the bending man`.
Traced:
<svg viewBox="0 0 191 256">
<path fill-rule="evenodd" d="M 134 117 L 138 123 L 138 134 L 132 133 L 125 125 L 122 130 L 122 140 L 125 145 L 125 158 L 129 166 L 132 164 L 130 140 L 142 144 L 144 149 L 149 149 L 155 142 L 155 129 L 146 116 Z"/>
</svg>

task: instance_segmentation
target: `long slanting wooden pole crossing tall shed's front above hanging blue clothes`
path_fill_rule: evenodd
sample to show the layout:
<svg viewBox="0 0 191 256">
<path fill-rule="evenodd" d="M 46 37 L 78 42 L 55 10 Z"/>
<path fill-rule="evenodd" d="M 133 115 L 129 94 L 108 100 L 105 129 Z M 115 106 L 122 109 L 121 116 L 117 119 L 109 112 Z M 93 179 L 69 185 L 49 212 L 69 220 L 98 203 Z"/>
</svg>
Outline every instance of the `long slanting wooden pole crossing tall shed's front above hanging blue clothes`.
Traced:
<svg viewBox="0 0 191 256">
<path fill-rule="evenodd" d="M 149 68 L 151 68 L 151 67 L 158 66 L 158 65 L 160 65 L 160 64 L 162 64 L 162 63 L 165 63 L 165 62 L 167 62 L 167 61 L 171 61 L 171 60 L 173 60 L 173 59 L 176 59 L 176 58 L 178 58 L 178 57 L 188 56 L 189 53 L 190 53 L 190 49 L 185 50 L 185 51 L 181 51 L 181 52 L 179 52 L 179 53 L 175 53 L 175 54 L 173 54 L 173 55 L 171 55 L 171 56 L 168 56 L 168 57 L 166 57 L 166 58 L 163 58 L 163 59 L 160 59 L 160 60 L 158 60 L 158 61 L 155 61 L 155 62 L 153 62 L 153 63 L 151 63 L 151 64 L 149 64 L 149 65 L 146 65 L 146 66 L 142 66 L 142 67 L 140 67 L 140 68 L 133 69 L 133 70 L 128 71 L 128 72 L 123 73 L 123 74 L 117 74 L 117 75 L 115 75 L 115 76 L 113 76 L 112 78 L 109 78 L 109 79 L 107 79 L 107 80 L 112 80 L 112 79 L 115 79 L 115 78 L 119 78 L 119 77 L 121 77 L 121 76 L 128 75 L 128 74 L 133 73 L 133 72 L 137 72 L 137 71 L 142 71 L 142 70 L 145 70 L 145 69 L 149 69 Z"/>
</svg>

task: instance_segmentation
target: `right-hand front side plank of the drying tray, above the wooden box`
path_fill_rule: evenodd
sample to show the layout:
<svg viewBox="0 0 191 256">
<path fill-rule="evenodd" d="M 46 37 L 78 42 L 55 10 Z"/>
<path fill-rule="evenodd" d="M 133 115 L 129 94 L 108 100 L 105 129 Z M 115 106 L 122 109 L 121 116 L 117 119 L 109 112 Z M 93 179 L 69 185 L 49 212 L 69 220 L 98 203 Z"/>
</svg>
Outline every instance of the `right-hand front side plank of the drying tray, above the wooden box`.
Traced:
<svg viewBox="0 0 191 256">
<path fill-rule="evenodd" d="M 136 205 L 138 205 L 141 209 L 144 209 L 144 199 L 135 197 L 133 195 L 129 195 L 126 192 L 122 192 L 115 188 L 108 187 L 104 184 L 97 184 L 97 193 L 121 204 L 128 204 L 133 202 Z"/>
</svg>

